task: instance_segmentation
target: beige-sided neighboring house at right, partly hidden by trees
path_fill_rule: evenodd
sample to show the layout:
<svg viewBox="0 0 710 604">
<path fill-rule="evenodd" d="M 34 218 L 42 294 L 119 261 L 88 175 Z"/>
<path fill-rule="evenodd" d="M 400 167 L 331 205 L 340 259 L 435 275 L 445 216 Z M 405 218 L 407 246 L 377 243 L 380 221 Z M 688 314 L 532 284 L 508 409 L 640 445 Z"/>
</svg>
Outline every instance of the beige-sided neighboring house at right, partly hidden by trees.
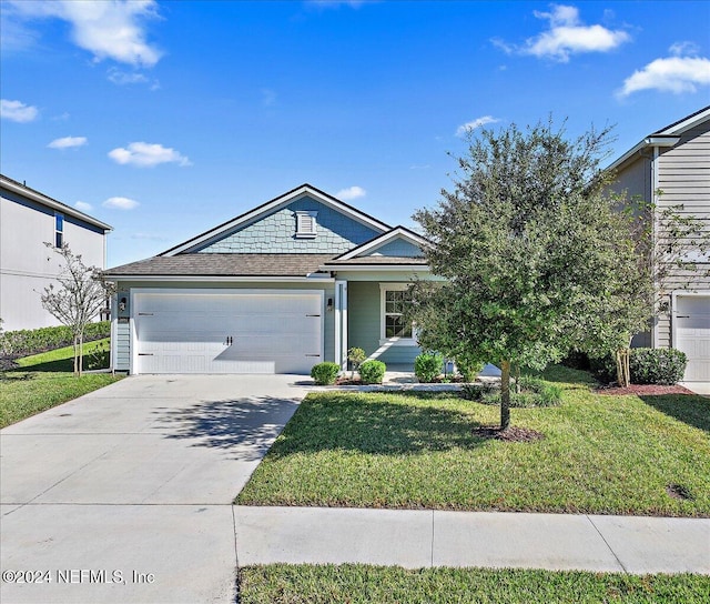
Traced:
<svg viewBox="0 0 710 604">
<path fill-rule="evenodd" d="M 702 219 L 710 231 L 710 107 L 649 134 L 611 165 L 615 189 L 640 195 L 658 208 L 682 205 L 682 212 Z M 656 221 L 655 221 L 656 224 Z M 655 233 L 658 236 L 658 232 Z M 692 253 L 692 252 L 691 252 Z M 710 258 L 696 273 L 671 275 L 670 292 L 652 330 L 640 345 L 676 348 L 688 355 L 686 381 L 710 381 Z"/>
</svg>

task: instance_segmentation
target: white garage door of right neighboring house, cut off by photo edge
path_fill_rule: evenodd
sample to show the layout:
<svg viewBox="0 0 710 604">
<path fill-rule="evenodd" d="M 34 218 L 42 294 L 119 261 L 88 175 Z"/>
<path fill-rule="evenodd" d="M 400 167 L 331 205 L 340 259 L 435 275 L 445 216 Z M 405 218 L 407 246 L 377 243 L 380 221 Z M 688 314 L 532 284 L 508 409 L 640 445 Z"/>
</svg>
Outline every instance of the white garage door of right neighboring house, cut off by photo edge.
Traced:
<svg viewBox="0 0 710 604">
<path fill-rule="evenodd" d="M 688 356 L 687 382 L 710 382 L 710 295 L 676 299 L 676 348 Z"/>
</svg>

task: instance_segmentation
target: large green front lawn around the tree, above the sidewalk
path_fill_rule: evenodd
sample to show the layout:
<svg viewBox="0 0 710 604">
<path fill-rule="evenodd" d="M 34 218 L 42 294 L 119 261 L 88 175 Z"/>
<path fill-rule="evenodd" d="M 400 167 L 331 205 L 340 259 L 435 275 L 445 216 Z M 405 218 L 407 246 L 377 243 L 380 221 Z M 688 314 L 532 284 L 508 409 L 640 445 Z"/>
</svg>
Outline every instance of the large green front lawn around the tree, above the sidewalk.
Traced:
<svg viewBox="0 0 710 604">
<path fill-rule="evenodd" d="M 531 443 L 474 436 L 498 409 L 450 394 L 312 393 L 236 503 L 710 515 L 710 400 L 600 396 L 554 371 L 560 406 L 511 410 Z"/>
</svg>

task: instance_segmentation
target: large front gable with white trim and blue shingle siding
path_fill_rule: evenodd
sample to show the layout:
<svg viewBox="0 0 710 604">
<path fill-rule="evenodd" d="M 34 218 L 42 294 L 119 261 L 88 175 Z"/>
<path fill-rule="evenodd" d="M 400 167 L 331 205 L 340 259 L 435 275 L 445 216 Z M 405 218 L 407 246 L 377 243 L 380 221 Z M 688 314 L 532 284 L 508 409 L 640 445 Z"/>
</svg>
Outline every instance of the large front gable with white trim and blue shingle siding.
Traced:
<svg viewBox="0 0 710 604">
<path fill-rule="evenodd" d="M 317 235 L 296 236 L 296 212 L 316 212 Z M 389 226 L 303 184 L 160 255 L 181 253 L 343 253 Z"/>
</svg>

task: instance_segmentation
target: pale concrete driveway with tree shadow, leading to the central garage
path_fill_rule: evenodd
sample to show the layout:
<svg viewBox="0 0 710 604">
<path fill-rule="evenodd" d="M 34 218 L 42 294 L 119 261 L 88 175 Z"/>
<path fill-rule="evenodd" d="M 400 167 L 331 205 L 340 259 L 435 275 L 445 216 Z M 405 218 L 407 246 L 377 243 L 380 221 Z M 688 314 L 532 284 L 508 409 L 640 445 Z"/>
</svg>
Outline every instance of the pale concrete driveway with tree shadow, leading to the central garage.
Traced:
<svg viewBox="0 0 710 604">
<path fill-rule="evenodd" d="M 0 600 L 234 602 L 231 503 L 298 380 L 128 378 L 2 430 Z"/>
</svg>

